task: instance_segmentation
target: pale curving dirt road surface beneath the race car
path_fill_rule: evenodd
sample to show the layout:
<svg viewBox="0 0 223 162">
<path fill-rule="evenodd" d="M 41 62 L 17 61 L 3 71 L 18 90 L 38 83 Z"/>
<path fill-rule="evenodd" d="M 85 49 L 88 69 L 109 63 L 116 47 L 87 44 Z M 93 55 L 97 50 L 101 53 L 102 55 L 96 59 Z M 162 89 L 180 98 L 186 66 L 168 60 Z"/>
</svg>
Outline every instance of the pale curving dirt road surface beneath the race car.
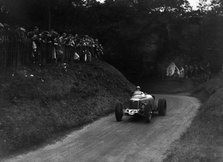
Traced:
<svg viewBox="0 0 223 162">
<path fill-rule="evenodd" d="M 167 116 L 151 123 L 114 114 L 104 117 L 66 138 L 6 162 L 159 162 L 170 144 L 190 125 L 200 102 L 192 97 L 155 95 L 167 99 Z"/>
</svg>

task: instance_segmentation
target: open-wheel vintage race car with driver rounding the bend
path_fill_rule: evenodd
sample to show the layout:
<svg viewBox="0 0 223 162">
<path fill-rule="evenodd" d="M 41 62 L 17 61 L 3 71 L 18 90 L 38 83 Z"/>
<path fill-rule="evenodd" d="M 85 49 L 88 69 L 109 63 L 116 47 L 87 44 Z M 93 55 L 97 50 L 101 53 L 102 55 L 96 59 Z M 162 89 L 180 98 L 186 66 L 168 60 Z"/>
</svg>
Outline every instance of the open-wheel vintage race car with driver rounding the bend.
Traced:
<svg viewBox="0 0 223 162">
<path fill-rule="evenodd" d="M 127 106 L 124 107 L 121 103 L 116 104 L 115 117 L 117 121 L 121 121 L 123 116 L 140 115 L 146 122 L 150 122 L 153 114 L 165 116 L 166 109 L 166 99 L 160 98 L 157 102 L 153 95 L 140 91 L 140 87 L 137 86 Z"/>
</svg>

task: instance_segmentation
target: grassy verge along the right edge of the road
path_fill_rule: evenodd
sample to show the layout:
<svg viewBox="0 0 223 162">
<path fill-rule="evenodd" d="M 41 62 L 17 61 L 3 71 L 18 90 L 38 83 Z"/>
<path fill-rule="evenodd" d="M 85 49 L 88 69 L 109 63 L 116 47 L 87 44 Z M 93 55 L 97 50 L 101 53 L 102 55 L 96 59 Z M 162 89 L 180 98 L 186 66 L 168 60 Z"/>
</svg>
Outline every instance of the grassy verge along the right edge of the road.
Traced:
<svg viewBox="0 0 223 162">
<path fill-rule="evenodd" d="M 200 85 L 194 96 L 203 105 L 187 132 L 172 145 L 165 162 L 223 161 L 223 75 Z"/>
</svg>

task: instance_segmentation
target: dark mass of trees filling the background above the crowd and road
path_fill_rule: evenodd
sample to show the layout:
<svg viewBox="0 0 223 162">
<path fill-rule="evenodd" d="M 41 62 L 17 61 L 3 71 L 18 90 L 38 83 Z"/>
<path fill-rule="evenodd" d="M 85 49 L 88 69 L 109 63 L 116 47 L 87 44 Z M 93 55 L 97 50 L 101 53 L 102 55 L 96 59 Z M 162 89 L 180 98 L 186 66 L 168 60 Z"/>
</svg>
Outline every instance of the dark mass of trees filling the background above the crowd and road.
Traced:
<svg viewBox="0 0 223 162">
<path fill-rule="evenodd" d="M 89 34 L 104 46 L 104 59 L 129 78 L 165 73 L 180 65 L 222 67 L 223 2 L 186 0 L 1 0 L 2 22 Z"/>
</svg>

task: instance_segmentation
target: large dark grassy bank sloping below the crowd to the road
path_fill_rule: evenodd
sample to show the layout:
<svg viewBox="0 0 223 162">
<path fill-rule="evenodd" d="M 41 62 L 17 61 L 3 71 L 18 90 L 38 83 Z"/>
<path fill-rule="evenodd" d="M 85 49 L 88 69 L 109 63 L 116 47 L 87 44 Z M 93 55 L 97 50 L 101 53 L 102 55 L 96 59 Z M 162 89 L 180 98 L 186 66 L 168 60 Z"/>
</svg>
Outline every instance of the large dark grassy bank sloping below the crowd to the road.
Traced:
<svg viewBox="0 0 223 162">
<path fill-rule="evenodd" d="M 39 145 L 112 112 L 132 88 L 103 62 L 1 73 L 0 156 Z"/>
</svg>

